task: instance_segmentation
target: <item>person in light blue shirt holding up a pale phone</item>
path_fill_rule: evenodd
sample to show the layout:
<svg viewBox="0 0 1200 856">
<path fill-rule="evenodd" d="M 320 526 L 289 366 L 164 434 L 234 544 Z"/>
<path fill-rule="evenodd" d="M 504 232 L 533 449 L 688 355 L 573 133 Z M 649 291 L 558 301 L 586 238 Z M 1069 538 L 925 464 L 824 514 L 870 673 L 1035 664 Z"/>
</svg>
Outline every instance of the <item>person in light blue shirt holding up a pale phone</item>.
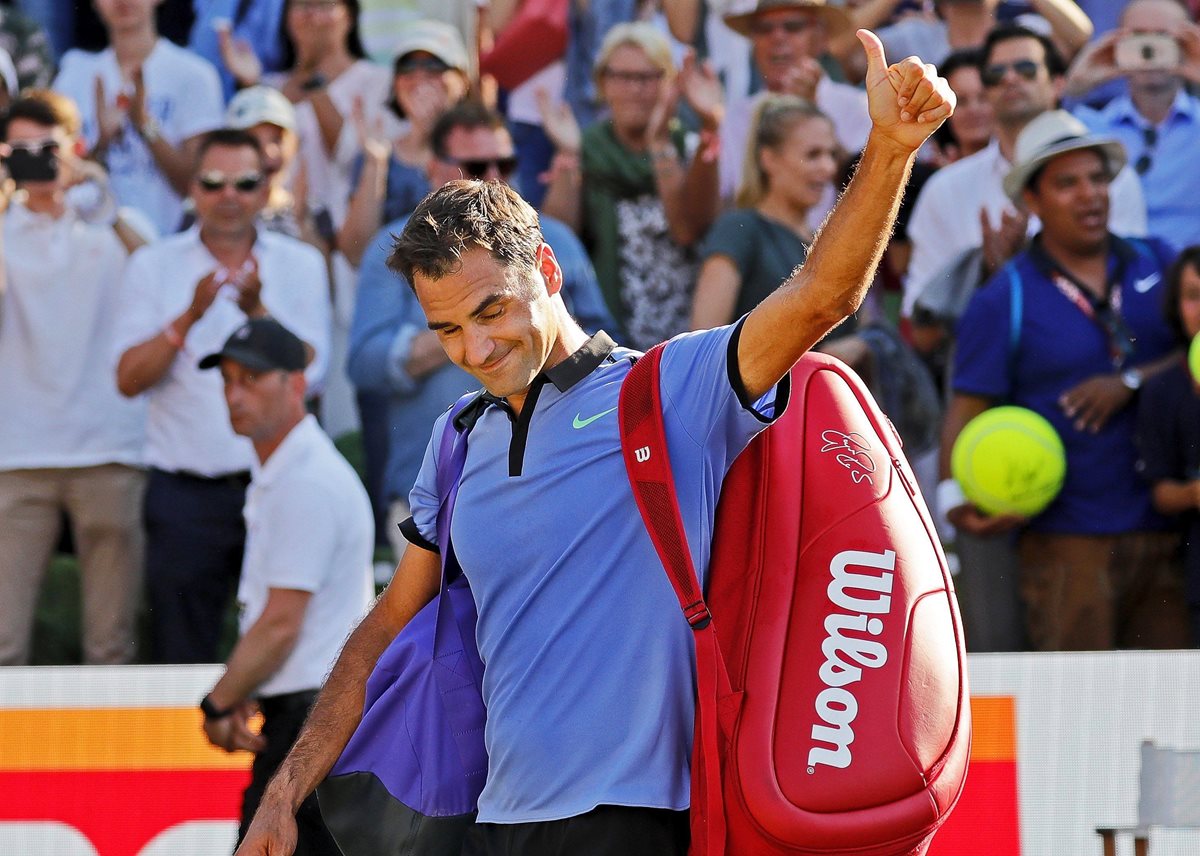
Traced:
<svg viewBox="0 0 1200 856">
<path fill-rule="evenodd" d="M 1133 0 L 1121 25 L 1084 50 L 1067 74 L 1082 96 L 1123 78 L 1128 92 L 1075 115 L 1096 133 L 1120 139 L 1141 178 L 1150 234 L 1177 250 L 1200 241 L 1200 26 L 1174 0 Z"/>
</svg>

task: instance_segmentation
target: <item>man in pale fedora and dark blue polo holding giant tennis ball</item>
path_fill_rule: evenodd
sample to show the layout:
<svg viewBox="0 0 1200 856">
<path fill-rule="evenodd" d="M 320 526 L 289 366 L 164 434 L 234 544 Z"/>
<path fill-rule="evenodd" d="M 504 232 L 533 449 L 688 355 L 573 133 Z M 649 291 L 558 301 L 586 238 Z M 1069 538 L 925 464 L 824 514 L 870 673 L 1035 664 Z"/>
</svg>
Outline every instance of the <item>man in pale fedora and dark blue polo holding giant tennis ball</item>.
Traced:
<svg viewBox="0 0 1200 856">
<path fill-rule="evenodd" d="M 1118 142 L 1090 137 L 1063 110 L 1030 122 L 1004 191 L 1042 232 L 972 297 L 958 328 L 943 477 L 962 427 L 997 403 L 1045 417 L 1067 450 L 1062 491 L 1028 521 L 984 515 L 950 479 L 938 489 L 950 522 L 972 534 L 1027 523 L 1020 592 L 1030 640 L 1043 651 L 1188 640 L 1176 541 L 1135 471 L 1130 407 L 1142 381 L 1174 358 L 1163 316 L 1171 252 L 1108 232 L 1109 181 L 1124 160 Z"/>
</svg>

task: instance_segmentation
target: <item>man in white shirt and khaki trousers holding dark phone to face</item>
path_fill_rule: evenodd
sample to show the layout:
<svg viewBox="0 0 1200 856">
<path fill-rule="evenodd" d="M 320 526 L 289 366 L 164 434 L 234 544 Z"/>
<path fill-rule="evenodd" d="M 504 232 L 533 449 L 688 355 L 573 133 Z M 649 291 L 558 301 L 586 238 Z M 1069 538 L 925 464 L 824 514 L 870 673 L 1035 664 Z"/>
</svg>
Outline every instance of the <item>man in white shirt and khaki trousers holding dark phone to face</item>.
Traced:
<svg viewBox="0 0 1200 856">
<path fill-rule="evenodd" d="M 116 294 L 140 239 L 79 156 L 71 98 L 28 90 L 0 130 L 0 665 L 30 659 L 65 513 L 85 663 L 134 656 L 145 408 L 112 373 Z"/>
</svg>

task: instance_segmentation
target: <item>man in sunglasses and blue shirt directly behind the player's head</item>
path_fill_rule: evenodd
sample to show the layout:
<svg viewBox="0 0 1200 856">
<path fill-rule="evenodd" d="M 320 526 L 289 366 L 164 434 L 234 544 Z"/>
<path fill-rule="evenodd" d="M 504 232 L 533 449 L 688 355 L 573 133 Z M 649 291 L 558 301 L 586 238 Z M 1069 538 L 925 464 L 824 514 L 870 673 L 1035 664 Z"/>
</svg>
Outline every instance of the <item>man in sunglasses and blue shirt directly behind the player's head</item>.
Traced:
<svg viewBox="0 0 1200 856">
<path fill-rule="evenodd" d="M 446 112 L 433 128 L 431 145 L 433 187 L 462 178 L 464 163 L 482 164 L 482 178 L 505 180 L 505 167 L 514 162 L 512 137 L 504 119 L 478 103 Z M 406 541 L 396 526 L 409 516 L 408 492 L 416 483 L 430 429 L 458 396 L 479 389 L 478 381 L 446 359 L 438 337 L 425 325 L 416 295 L 407 283 L 397 283 L 388 269 L 392 237 L 407 222 L 406 216 L 388 223 L 362 257 L 348 361 L 355 387 L 388 396 L 383 495 L 389 507 L 388 537 L 397 556 Z M 612 316 L 580 239 L 568 226 L 546 216 L 541 217 L 541 231 L 563 269 L 568 310 L 588 333 L 612 331 Z"/>
</svg>

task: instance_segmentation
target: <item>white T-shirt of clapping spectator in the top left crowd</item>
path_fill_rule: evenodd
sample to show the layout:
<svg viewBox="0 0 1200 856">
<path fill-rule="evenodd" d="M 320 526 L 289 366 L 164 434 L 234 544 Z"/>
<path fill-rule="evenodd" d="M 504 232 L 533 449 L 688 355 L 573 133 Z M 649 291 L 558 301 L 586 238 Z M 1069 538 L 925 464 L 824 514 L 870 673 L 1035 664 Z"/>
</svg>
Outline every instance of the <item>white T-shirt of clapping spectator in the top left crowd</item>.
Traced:
<svg viewBox="0 0 1200 856">
<path fill-rule="evenodd" d="M 95 145 L 96 78 L 104 83 L 108 100 L 118 92 L 133 94 L 133 84 L 122 79 L 112 48 L 100 53 L 68 50 L 54 80 L 54 89 L 79 106 L 83 136 Z M 188 137 L 224 124 L 221 79 L 208 60 L 160 38 L 143 67 L 146 108 L 158 122 L 162 138 L 179 146 Z M 113 192 L 122 205 L 137 209 L 158 229 L 170 234 L 179 228 L 182 198 L 155 163 L 154 154 L 137 130 L 125 120 L 122 133 L 113 140 L 106 158 Z"/>
</svg>

